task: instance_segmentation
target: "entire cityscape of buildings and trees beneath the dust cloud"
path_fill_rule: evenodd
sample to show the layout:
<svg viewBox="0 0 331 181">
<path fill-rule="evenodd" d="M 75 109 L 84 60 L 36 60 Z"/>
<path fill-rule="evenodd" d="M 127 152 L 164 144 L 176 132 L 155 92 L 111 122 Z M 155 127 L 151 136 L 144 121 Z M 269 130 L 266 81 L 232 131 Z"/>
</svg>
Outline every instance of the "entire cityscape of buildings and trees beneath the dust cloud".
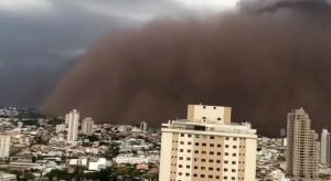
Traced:
<svg viewBox="0 0 331 181">
<path fill-rule="evenodd" d="M 303 108 L 292 109 L 287 128 L 268 138 L 249 123 L 233 123 L 232 108 L 222 106 L 189 105 L 186 118 L 161 129 L 147 121 L 95 124 L 76 109 L 62 118 L 3 108 L 0 178 L 15 180 L 12 172 L 21 170 L 21 177 L 61 171 L 58 180 L 77 172 L 87 179 L 108 170 L 113 180 L 331 180 L 331 134 L 324 128 L 319 138 L 312 124 Z"/>
</svg>

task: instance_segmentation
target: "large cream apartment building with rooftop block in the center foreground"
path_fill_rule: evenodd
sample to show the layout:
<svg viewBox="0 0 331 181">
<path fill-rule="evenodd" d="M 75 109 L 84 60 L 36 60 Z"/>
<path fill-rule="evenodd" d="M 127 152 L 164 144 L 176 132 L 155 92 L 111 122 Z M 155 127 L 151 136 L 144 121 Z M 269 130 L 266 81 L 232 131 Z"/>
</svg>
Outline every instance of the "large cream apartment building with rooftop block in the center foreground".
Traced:
<svg viewBox="0 0 331 181">
<path fill-rule="evenodd" d="M 161 130 L 160 181 L 255 180 L 256 130 L 231 124 L 229 107 L 189 105 Z"/>
</svg>

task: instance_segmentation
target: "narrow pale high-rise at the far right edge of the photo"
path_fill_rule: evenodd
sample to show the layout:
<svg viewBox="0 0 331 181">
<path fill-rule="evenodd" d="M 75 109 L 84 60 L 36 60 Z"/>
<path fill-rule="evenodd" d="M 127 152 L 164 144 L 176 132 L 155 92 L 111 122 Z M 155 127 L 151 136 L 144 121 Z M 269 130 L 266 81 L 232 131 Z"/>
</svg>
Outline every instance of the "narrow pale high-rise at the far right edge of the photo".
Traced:
<svg viewBox="0 0 331 181">
<path fill-rule="evenodd" d="M 321 163 L 331 167 L 331 139 L 328 129 L 321 134 Z"/>
</svg>

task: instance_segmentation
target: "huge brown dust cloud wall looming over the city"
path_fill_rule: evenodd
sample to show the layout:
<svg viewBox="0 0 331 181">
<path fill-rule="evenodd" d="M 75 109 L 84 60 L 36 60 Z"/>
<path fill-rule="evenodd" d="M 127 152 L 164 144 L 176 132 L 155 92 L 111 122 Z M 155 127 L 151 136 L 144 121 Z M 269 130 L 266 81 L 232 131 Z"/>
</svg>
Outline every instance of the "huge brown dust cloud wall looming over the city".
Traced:
<svg viewBox="0 0 331 181">
<path fill-rule="evenodd" d="M 93 46 L 41 110 L 76 108 L 99 123 L 160 126 L 188 104 L 233 107 L 233 121 L 277 135 L 303 107 L 330 126 L 331 6 L 327 0 L 243 0 L 237 12 L 159 19 Z"/>
</svg>

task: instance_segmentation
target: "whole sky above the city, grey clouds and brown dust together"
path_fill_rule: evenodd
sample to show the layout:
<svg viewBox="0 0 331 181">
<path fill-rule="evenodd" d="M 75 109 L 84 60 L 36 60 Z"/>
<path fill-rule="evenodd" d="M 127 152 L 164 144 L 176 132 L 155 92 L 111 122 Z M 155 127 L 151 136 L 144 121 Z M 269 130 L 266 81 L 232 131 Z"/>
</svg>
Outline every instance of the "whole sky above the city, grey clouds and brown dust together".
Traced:
<svg viewBox="0 0 331 181">
<path fill-rule="evenodd" d="M 327 0 L 1 3 L 0 22 L 19 22 L 2 31 L 20 34 L 1 44 L 3 106 L 158 126 L 203 103 L 269 135 L 305 107 L 329 126 Z"/>
</svg>

